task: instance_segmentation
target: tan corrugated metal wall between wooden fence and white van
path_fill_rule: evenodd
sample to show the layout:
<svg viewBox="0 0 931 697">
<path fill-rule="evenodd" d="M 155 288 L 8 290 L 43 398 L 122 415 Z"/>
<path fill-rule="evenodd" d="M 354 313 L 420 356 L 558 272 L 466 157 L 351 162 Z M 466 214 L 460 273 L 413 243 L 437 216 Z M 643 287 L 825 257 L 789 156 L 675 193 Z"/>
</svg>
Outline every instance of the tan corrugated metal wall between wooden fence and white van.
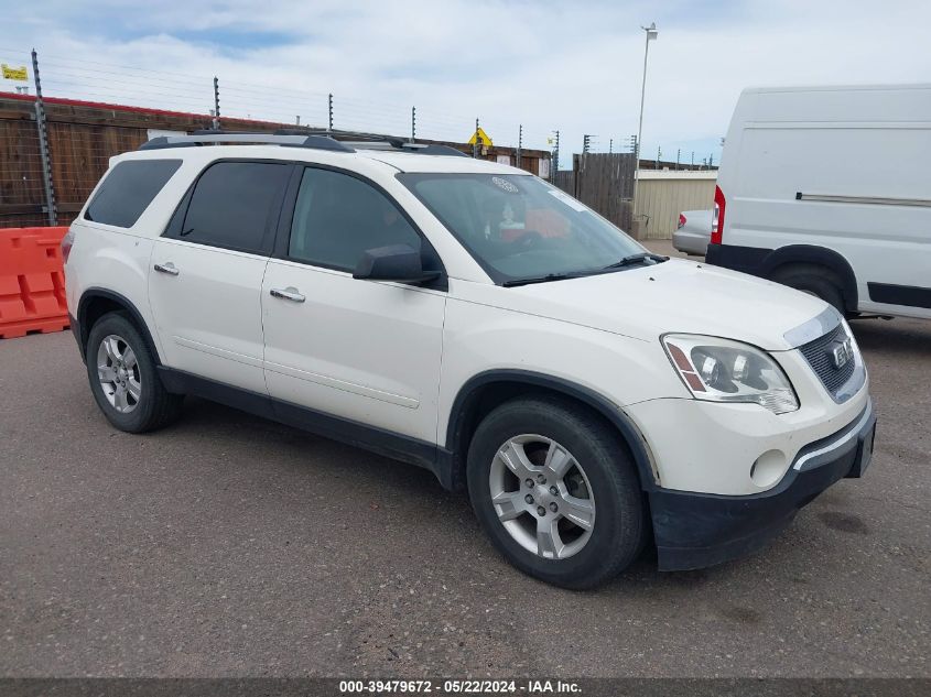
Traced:
<svg viewBox="0 0 931 697">
<path fill-rule="evenodd" d="M 683 210 L 714 206 L 716 172 L 645 172 L 637 184 L 637 213 L 649 216 L 647 239 L 670 239 Z"/>
</svg>

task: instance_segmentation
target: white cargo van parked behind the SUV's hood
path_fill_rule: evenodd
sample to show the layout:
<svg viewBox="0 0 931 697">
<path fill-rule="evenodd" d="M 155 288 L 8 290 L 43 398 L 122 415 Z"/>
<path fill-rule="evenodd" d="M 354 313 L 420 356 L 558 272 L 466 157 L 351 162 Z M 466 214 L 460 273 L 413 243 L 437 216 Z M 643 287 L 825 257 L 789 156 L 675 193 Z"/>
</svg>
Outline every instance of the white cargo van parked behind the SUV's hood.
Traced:
<svg viewBox="0 0 931 697">
<path fill-rule="evenodd" d="M 931 318 L 931 85 L 745 89 L 708 263 Z"/>
</svg>

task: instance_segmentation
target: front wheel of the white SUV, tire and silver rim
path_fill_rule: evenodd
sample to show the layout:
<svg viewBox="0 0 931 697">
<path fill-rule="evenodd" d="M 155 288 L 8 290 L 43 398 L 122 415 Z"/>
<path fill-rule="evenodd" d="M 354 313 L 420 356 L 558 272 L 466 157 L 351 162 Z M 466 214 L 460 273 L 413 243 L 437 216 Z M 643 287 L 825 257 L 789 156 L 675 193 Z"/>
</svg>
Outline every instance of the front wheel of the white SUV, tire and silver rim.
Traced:
<svg viewBox="0 0 931 697">
<path fill-rule="evenodd" d="M 565 462 L 563 453 L 575 462 L 561 478 L 559 465 L 542 466 L 551 453 L 552 462 Z M 643 547 L 647 508 L 636 466 L 619 434 L 585 407 L 548 396 L 497 407 L 473 436 L 467 479 L 475 514 L 498 551 L 546 582 L 593 588 L 629 566 Z M 591 522 L 591 530 L 570 516 Z M 553 526 L 555 534 L 548 534 Z"/>
</svg>

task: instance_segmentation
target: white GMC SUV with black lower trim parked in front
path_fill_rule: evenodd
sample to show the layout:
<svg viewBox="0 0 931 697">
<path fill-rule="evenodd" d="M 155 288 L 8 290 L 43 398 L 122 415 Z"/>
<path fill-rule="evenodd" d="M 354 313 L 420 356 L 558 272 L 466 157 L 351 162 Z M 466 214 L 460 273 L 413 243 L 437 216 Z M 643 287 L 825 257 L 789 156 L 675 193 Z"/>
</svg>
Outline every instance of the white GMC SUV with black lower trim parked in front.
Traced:
<svg viewBox="0 0 931 697">
<path fill-rule="evenodd" d="M 63 250 L 117 428 L 196 394 L 414 462 L 553 584 L 647 543 L 662 569 L 743 555 L 869 462 L 866 369 L 832 307 L 651 254 L 448 149 L 155 139 L 113 157 Z"/>
</svg>

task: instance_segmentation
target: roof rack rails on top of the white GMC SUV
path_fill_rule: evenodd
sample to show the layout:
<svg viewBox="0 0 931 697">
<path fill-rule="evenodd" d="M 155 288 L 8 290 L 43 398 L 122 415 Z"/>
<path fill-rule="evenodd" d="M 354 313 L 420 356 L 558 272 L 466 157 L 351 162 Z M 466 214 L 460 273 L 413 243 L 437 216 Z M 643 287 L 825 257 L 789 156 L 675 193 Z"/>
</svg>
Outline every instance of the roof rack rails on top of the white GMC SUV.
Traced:
<svg viewBox="0 0 931 697">
<path fill-rule="evenodd" d="M 351 140 L 349 140 L 351 139 Z M 459 155 L 464 152 L 450 145 L 411 143 L 401 138 L 366 133 L 364 131 L 323 131 L 314 129 L 279 129 L 273 133 L 243 131 L 199 130 L 191 135 L 159 135 L 139 146 L 139 150 L 165 148 L 196 148 L 210 143 L 266 143 L 291 148 L 312 148 L 335 152 L 356 150 L 401 151 L 422 155 Z"/>
</svg>

